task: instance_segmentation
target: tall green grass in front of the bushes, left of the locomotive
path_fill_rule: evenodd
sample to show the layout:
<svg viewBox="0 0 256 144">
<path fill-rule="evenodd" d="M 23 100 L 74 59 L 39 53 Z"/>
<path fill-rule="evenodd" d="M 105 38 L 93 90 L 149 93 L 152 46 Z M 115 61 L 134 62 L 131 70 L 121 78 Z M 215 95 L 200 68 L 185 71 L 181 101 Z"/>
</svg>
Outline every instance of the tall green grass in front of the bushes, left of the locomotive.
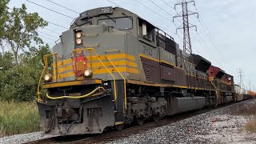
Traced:
<svg viewBox="0 0 256 144">
<path fill-rule="evenodd" d="M 0 138 L 39 130 L 38 107 L 34 102 L 0 102 Z"/>
</svg>

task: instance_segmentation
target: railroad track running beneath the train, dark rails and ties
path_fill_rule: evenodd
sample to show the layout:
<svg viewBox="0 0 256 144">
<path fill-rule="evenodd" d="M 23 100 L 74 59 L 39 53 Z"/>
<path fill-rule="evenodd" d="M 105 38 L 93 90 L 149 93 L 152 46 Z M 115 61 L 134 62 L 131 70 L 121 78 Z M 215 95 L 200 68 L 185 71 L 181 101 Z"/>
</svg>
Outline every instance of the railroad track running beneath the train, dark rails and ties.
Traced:
<svg viewBox="0 0 256 144">
<path fill-rule="evenodd" d="M 230 103 L 225 106 L 230 106 L 234 103 Z M 178 122 L 186 118 L 190 118 L 193 116 L 196 116 L 198 114 L 203 114 L 206 112 L 209 112 L 211 110 L 216 110 L 225 106 L 218 106 L 215 108 L 210 109 L 202 109 L 202 110 L 195 110 L 192 112 L 182 113 L 182 114 L 176 114 L 174 116 L 168 116 L 162 120 L 159 120 L 158 122 L 147 122 L 146 124 L 142 126 L 131 126 L 127 127 L 123 130 L 110 130 L 103 134 L 85 134 L 85 135 L 76 135 L 76 136 L 56 136 L 52 138 L 43 138 L 39 139 L 33 142 L 26 142 L 26 144 L 36 144 L 36 143 L 42 143 L 42 144 L 49 144 L 49 143 L 68 143 L 68 144 L 79 144 L 79 143 L 105 143 L 112 139 L 118 139 L 118 138 L 126 138 L 127 136 L 131 134 L 139 134 L 143 131 L 150 130 L 155 127 L 159 126 L 166 126 L 173 122 Z"/>
</svg>

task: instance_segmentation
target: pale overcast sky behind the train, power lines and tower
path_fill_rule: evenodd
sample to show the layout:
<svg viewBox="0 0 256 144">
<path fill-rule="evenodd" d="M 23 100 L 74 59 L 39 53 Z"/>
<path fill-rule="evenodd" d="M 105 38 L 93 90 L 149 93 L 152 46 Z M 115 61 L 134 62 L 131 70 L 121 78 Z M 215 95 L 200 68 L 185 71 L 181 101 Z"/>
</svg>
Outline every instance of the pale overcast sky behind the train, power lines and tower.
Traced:
<svg viewBox="0 0 256 144">
<path fill-rule="evenodd" d="M 30 2 L 28 2 L 30 1 Z M 174 19 L 172 17 L 181 11 L 180 6 L 174 4 L 180 0 L 51 0 L 59 5 L 68 7 L 78 13 L 102 6 L 121 6 L 126 10 L 130 10 L 140 17 L 145 18 L 154 25 L 164 28 L 167 34 L 170 34 L 182 48 L 182 31 L 176 28 L 181 26 L 182 19 Z M 141 2 L 142 4 L 138 3 Z M 46 10 L 41 6 L 46 6 L 51 10 Z M 114 3 L 112 3 L 114 2 Z M 9 7 L 20 7 L 25 3 L 29 12 L 38 12 L 38 14 L 48 22 L 69 27 L 79 14 L 66 10 L 61 6 L 54 5 L 47 0 L 10 0 Z M 156 6 L 157 5 L 157 6 Z M 192 50 L 194 54 L 200 54 L 204 58 L 210 60 L 212 65 L 221 67 L 226 73 L 234 75 L 235 83 L 239 84 L 238 69 L 243 71 L 243 83 L 247 89 L 256 91 L 256 38 L 255 23 L 256 12 L 255 0 L 195 0 L 195 6 L 190 3 L 189 10 L 198 12 L 196 15 L 190 16 L 190 23 L 197 26 L 190 30 Z M 69 18 L 71 17 L 71 18 Z M 46 29 L 40 30 L 42 39 L 54 45 L 54 41 L 58 40 L 58 36 L 65 31 L 65 28 L 49 24 Z"/>
</svg>

